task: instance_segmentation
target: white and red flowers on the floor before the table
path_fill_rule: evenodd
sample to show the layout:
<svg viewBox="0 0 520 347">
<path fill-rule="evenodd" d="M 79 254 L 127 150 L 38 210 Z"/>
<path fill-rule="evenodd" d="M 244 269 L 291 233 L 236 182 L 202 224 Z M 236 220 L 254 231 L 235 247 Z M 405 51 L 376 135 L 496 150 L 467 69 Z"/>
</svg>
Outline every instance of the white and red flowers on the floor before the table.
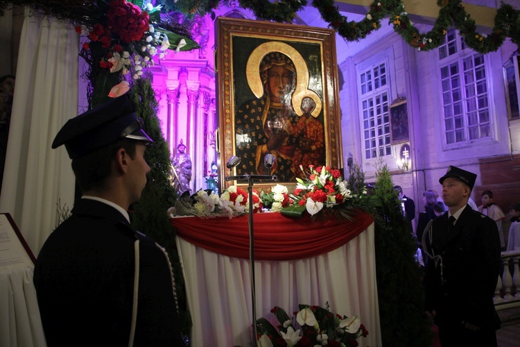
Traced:
<svg viewBox="0 0 520 347">
<path fill-rule="evenodd" d="M 366 337 L 368 330 L 357 316 L 333 314 L 326 307 L 299 305 L 293 319 L 281 307 L 275 306 L 271 313 L 279 321 L 278 330 L 264 318 L 257 319 L 259 346 L 358 346 L 358 337 Z M 299 329 L 295 328 L 295 322 Z"/>
</svg>

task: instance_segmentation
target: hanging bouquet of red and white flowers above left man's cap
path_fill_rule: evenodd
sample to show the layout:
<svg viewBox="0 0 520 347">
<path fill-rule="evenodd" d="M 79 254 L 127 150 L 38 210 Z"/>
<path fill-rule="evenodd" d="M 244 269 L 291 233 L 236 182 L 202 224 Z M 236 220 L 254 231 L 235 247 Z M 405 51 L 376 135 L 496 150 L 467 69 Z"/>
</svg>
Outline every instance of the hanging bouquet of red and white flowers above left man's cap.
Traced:
<svg viewBox="0 0 520 347">
<path fill-rule="evenodd" d="M 125 78 L 141 78 L 144 69 L 153 65 L 154 56 L 163 58 L 168 49 L 198 48 L 190 37 L 166 30 L 161 6 L 154 7 L 150 1 L 98 1 L 98 6 L 101 13 L 95 22 L 76 26 L 85 35 L 80 56 L 89 65 L 85 76 L 91 83 L 92 105 L 106 101 L 108 91 Z"/>
</svg>

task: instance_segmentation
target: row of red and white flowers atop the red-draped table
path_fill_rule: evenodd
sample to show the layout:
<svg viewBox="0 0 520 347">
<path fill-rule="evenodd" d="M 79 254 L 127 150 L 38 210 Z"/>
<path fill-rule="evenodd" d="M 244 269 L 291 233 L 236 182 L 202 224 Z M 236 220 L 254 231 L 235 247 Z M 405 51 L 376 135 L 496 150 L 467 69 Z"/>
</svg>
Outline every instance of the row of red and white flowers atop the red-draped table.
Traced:
<svg viewBox="0 0 520 347">
<path fill-rule="evenodd" d="M 301 165 L 300 169 L 305 178 L 296 178 L 297 185 L 293 193 L 290 193 L 286 186 L 279 184 L 272 186 L 270 192 L 260 194 L 253 189 L 253 212 L 281 212 L 289 217 L 301 217 L 306 211 L 313 218 L 318 215 L 324 218 L 336 215 L 340 218 L 354 219 L 357 210 L 367 210 L 367 207 L 377 203 L 374 196 L 367 196 L 364 184 L 354 187 L 354 183 L 343 179 L 338 169 L 313 165 L 309 165 L 307 171 L 304 171 Z M 349 189 L 350 185 L 354 187 L 355 192 Z M 234 185 L 220 196 L 208 187 L 192 196 L 188 193 L 182 194 L 175 206 L 168 210 L 168 215 L 232 218 L 249 212 L 248 199 L 248 192 Z"/>
</svg>

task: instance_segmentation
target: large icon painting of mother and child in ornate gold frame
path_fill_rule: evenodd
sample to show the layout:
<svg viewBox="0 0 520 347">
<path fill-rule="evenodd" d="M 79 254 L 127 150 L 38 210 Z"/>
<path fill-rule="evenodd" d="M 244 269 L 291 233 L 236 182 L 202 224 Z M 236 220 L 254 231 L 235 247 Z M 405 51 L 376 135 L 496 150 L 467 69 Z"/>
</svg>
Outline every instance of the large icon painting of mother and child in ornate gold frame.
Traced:
<svg viewBox="0 0 520 347">
<path fill-rule="evenodd" d="M 220 163 L 236 155 L 233 176 L 282 185 L 304 176 L 300 166 L 343 168 L 334 31 L 225 17 L 217 31 Z M 220 170 L 223 189 L 240 185 L 228 174 Z"/>
</svg>

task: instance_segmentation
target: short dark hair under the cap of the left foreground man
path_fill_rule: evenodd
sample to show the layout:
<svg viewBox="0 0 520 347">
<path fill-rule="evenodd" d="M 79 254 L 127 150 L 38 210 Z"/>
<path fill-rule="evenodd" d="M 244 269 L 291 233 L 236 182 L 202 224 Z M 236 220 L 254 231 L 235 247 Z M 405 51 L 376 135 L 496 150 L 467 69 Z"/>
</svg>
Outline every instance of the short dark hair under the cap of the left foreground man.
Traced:
<svg viewBox="0 0 520 347">
<path fill-rule="evenodd" d="M 110 176 L 112 159 L 119 149 L 125 149 L 130 158 L 135 158 L 137 143 L 135 139 L 119 139 L 118 141 L 101 147 L 95 151 L 72 160 L 72 170 L 82 192 L 94 187 L 103 187 L 105 178 Z"/>
</svg>

